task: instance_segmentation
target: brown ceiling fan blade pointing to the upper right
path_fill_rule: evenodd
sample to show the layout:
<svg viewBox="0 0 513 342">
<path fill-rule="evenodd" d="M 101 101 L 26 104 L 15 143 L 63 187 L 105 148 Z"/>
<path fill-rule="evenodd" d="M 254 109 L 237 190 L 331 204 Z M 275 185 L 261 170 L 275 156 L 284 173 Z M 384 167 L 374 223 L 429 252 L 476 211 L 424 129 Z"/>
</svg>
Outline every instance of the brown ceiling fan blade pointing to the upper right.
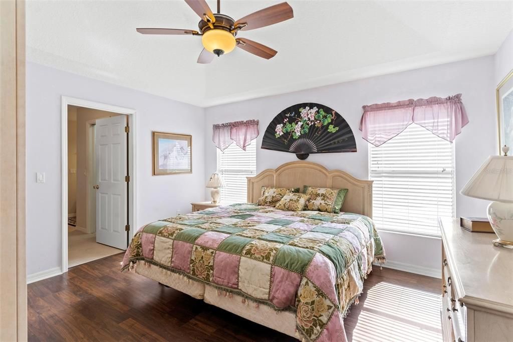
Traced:
<svg viewBox="0 0 513 342">
<path fill-rule="evenodd" d="M 235 27 L 244 26 L 241 31 L 254 30 L 260 27 L 280 23 L 294 17 L 294 11 L 287 3 L 281 3 L 246 15 L 235 22 Z"/>
</svg>

